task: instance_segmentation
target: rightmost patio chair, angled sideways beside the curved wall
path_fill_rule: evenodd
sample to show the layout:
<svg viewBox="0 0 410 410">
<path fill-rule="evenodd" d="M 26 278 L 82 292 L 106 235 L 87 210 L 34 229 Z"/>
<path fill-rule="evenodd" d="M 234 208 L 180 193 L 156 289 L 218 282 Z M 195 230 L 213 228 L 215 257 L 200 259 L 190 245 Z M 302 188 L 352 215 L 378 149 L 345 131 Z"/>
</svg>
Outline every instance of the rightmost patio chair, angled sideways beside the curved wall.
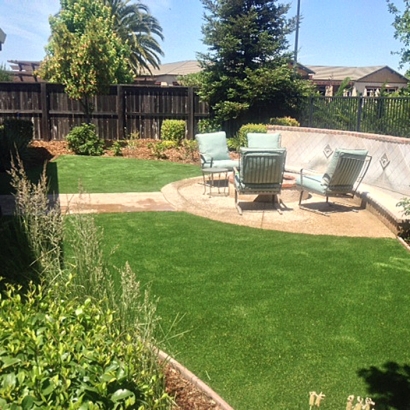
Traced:
<svg viewBox="0 0 410 410">
<path fill-rule="evenodd" d="M 304 192 L 325 196 L 328 205 L 331 205 L 329 197 L 353 198 L 369 169 L 371 159 L 367 150 L 337 149 L 324 174 L 302 168 L 296 178 L 296 189 L 300 191 L 299 207 L 326 215 L 326 212 L 302 206 Z"/>
</svg>

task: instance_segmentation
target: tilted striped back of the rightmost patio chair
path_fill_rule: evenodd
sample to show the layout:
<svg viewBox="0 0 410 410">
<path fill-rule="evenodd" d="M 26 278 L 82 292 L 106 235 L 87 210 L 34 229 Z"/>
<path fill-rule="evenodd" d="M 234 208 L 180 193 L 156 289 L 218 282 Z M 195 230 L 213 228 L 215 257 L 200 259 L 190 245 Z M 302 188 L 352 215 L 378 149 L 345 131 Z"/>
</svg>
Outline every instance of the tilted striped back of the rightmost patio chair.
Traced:
<svg viewBox="0 0 410 410">
<path fill-rule="evenodd" d="M 367 150 L 338 149 L 323 175 L 322 185 L 335 192 L 356 190 L 369 168 L 371 157 Z"/>
</svg>

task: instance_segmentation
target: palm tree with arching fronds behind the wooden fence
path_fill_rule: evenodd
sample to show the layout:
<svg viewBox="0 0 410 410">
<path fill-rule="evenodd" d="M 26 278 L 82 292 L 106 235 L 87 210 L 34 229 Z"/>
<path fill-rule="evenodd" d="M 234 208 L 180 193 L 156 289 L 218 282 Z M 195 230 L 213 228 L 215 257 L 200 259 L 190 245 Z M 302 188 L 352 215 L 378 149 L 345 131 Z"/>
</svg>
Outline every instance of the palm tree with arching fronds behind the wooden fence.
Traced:
<svg viewBox="0 0 410 410">
<path fill-rule="evenodd" d="M 114 25 L 119 37 L 131 48 L 130 63 L 135 74 L 151 68 L 159 68 L 159 56 L 164 53 L 155 37 L 164 39 L 162 27 L 153 17 L 149 8 L 138 2 L 129 4 L 130 0 L 103 0 L 114 16 Z"/>
</svg>

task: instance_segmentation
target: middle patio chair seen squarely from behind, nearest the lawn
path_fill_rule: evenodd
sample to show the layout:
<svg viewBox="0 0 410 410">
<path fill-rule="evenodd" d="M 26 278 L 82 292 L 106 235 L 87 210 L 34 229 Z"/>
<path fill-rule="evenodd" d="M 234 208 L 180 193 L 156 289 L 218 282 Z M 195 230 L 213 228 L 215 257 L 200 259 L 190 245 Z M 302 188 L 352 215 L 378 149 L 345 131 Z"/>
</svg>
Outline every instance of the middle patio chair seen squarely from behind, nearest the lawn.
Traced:
<svg viewBox="0 0 410 410">
<path fill-rule="evenodd" d="M 272 204 L 281 213 L 278 195 L 282 189 L 286 149 L 240 149 L 240 169 L 234 169 L 235 206 L 239 215 L 242 208 L 238 195 L 269 195 Z"/>
</svg>

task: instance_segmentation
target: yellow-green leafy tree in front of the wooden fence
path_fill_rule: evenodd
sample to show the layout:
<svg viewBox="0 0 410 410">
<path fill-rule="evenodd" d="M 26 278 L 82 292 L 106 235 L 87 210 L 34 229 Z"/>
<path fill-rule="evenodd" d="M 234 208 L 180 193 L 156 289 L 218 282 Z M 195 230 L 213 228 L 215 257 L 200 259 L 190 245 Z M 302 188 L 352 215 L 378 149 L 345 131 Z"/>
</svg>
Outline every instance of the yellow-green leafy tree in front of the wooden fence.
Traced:
<svg viewBox="0 0 410 410">
<path fill-rule="evenodd" d="M 63 84 L 79 100 L 90 121 L 91 97 L 111 84 L 132 82 L 130 49 L 114 31 L 109 7 L 101 0 L 60 0 L 61 10 L 50 17 L 51 39 L 40 76 Z"/>
</svg>

